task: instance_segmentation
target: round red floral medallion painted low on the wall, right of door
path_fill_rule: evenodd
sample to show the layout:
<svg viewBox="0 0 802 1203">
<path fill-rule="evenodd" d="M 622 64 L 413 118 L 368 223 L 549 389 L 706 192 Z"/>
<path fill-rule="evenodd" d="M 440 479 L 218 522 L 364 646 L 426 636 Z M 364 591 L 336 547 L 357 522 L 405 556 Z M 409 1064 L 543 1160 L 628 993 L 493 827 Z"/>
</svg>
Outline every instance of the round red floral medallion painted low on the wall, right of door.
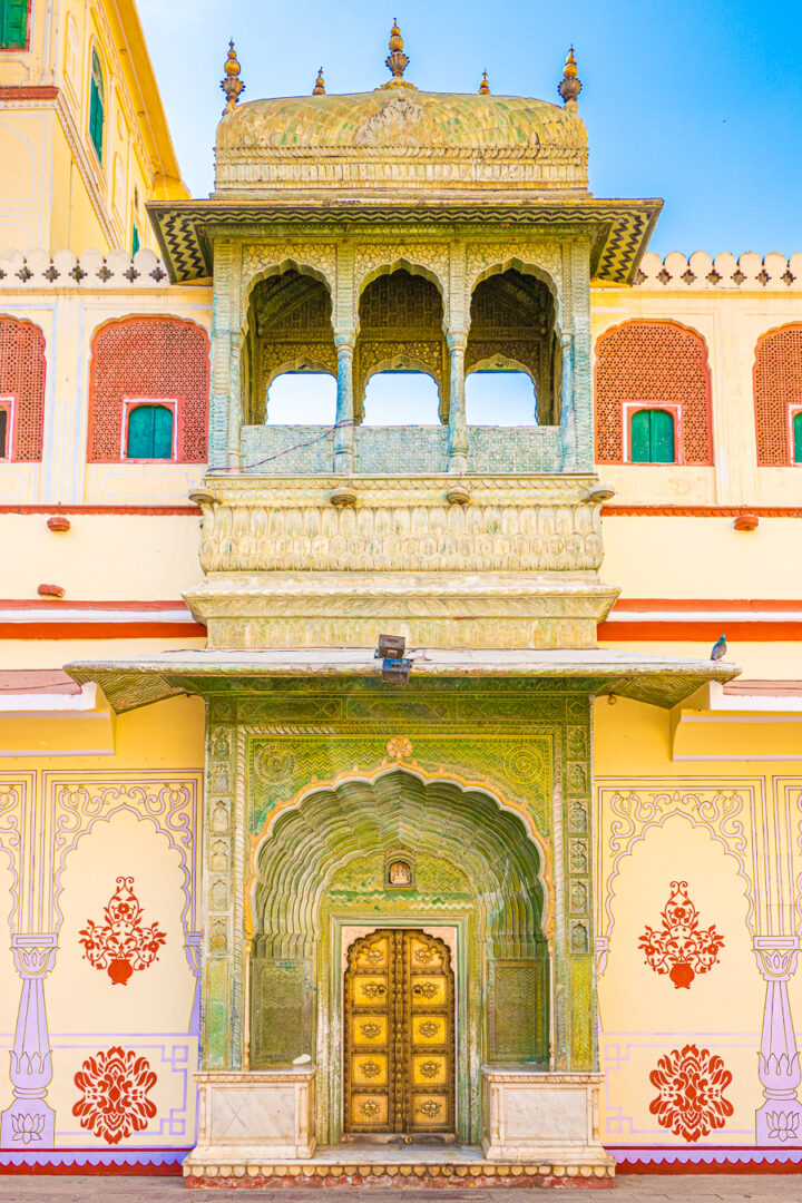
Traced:
<svg viewBox="0 0 802 1203">
<path fill-rule="evenodd" d="M 708 1049 L 685 1044 L 658 1061 L 649 1081 L 659 1095 L 649 1103 L 660 1127 L 670 1128 L 685 1140 L 697 1140 L 713 1128 L 724 1127 L 732 1115 L 732 1103 L 724 1097 L 732 1074 L 724 1068 L 720 1056 Z"/>
</svg>

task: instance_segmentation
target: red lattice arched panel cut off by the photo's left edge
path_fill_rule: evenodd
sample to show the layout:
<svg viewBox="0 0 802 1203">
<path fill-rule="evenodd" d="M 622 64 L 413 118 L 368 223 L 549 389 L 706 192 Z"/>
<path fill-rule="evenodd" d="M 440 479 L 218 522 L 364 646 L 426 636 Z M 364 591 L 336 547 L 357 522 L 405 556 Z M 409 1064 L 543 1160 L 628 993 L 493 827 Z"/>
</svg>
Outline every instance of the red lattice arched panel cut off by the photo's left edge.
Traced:
<svg viewBox="0 0 802 1203">
<path fill-rule="evenodd" d="M 32 321 L 0 316 L 0 399 L 12 398 L 11 460 L 42 458 L 44 334 Z"/>
</svg>

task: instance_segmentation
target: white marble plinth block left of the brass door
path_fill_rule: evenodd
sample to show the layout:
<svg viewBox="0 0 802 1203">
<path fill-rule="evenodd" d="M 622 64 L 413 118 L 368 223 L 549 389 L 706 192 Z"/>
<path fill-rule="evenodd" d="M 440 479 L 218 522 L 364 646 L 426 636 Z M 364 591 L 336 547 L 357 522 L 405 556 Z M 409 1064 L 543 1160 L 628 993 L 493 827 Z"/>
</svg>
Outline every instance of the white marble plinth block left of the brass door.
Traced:
<svg viewBox="0 0 802 1203">
<path fill-rule="evenodd" d="M 315 1067 L 197 1073 L 197 1144 L 185 1166 L 311 1157 Z"/>
</svg>

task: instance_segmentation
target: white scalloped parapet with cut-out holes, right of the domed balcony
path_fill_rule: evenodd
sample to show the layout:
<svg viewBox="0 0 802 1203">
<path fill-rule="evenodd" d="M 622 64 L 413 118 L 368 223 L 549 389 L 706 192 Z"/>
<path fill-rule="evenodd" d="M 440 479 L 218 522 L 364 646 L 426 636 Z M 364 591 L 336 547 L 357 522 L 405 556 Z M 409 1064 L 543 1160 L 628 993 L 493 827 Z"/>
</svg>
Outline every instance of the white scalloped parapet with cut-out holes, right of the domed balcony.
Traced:
<svg viewBox="0 0 802 1203">
<path fill-rule="evenodd" d="M 802 291 L 802 253 L 786 259 L 771 251 L 765 259 L 745 251 L 738 259 L 723 251 L 711 259 L 703 250 L 682 255 L 672 250 L 665 259 L 647 251 L 635 284 L 646 289 L 714 289 L 717 291 Z"/>
</svg>

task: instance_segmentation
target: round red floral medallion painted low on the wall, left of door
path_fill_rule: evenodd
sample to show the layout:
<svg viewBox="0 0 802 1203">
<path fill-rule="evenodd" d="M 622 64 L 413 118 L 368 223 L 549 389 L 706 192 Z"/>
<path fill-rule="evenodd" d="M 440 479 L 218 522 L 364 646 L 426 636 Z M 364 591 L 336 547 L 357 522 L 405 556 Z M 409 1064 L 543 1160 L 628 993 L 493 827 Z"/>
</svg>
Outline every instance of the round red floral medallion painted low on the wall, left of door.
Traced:
<svg viewBox="0 0 802 1203">
<path fill-rule="evenodd" d="M 72 1114 L 81 1120 L 81 1127 L 108 1144 L 119 1144 L 132 1132 L 144 1132 L 156 1114 L 156 1104 L 148 1098 L 155 1084 L 147 1057 L 117 1045 L 84 1061 L 76 1074 L 82 1097 Z"/>
</svg>

